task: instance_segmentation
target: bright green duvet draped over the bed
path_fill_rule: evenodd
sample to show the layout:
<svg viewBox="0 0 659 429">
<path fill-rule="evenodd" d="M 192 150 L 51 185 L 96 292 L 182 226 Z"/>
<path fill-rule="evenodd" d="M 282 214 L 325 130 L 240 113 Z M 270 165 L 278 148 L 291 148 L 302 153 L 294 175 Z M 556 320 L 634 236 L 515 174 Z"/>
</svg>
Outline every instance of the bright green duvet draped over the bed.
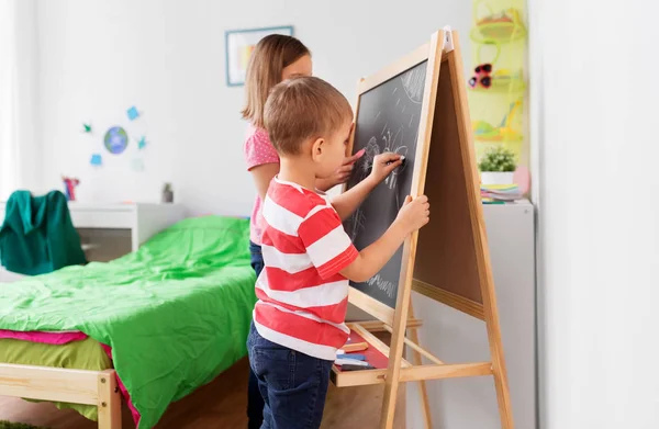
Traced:
<svg viewBox="0 0 659 429">
<path fill-rule="evenodd" d="M 110 263 L 2 284 L 0 329 L 80 330 L 153 427 L 167 406 L 245 355 L 256 302 L 245 219 L 180 222 Z"/>
</svg>

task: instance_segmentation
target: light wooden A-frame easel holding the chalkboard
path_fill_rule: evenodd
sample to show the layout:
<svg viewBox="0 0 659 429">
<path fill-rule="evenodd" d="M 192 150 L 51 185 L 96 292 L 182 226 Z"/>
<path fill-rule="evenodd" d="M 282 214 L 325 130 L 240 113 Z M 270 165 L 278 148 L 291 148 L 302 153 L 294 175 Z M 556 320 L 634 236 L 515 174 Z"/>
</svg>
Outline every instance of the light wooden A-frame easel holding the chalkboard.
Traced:
<svg viewBox="0 0 659 429">
<path fill-rule="evenodd" d="M 380 428 L 392 429 L 398 396 L 398 387 L 401 382 L 418 381 L 421 383 L 422 407 L 426 428 L 432 427 L 429 405 L 425 390 L 426 380 L 439 380 L 450 377 L 467 377 L 493 375 L 499 402 L 499 413 L 503 429 L 513 429 L 513 415 L 507 387 L 507 376 L 503 358 L 503 345 L 499 324 L 499 313 L 490 258 L 487 246 L 485 228 L 483 222 L 482 206 L 479 199 L 479 180 L 476 169 L 476 158 L 471 139 L 471 125 L 469 110 L 467 106 L 466 83 L 462 71 L 462 60 L 458 36 L 451 31 L 438 31 L 433 34 L 428 44 L 421 46 L 410 55 L 401 58 L 389 67 L 378 71 L 369 78 L 361 79 L 358 86 L 358 100 L 355 112 L 355 121 L 359 113 L 359 98 L 368 90 L 379 86 L 407 70 L 415 65 L 427 60 L 426 82 L 422 104 L 422 121 L 420 123 L 418 140 L 416 146 L 416 166 L 412 179 L 413 195 L 424 193 L 425 176 L 428 163 L 433 121 L 436 109 L 436 98 L 439 84 L 440 67 L 448 67 L 453 89 L 454 106 L 458 122 L 458 134 L 462 170 L 467 184 L 467 197 L 469 205 L 469 217 L 472 226 L 473 246 L 477 253 L 474 269 L 478 271 L 482 304 L 466 300 L 461 296 L 453 296 L 448 291 L 443 291 L 433 285 L 413 279 L 414 262 L 416 257 L 416 245 L 418 233 L 413 234 L 405 240 L 403 248 L 403 263 L 399 279 L 399 289 L 395 309 L 384 305 L 373 297 L 354 287 L 349 289 L 348 300 L 355 306 L 366 311 L 378 320 L 367 323 L 348 324 L 348 327 L 366 339 L 371 347 L 389 358 L 387 370 L 365 370 L 356 372 L 342 372 L 336 365 L 333 368 L 332 379 L 340 386 L 356 386 L 367 384 L 384 384 L 384 398 Z M 438 112 L 442 114 L 443 112 Z M 353 150 L 355 132 L 350 137 L 349 151 Z M 455 142 L 453 143 L 455 144 Z M 344 188 L 345 190 L 345 188 Z M 488 339 L 490 343 L 491 362 L 456 363 L 447 364 L 439 360 L 418 345 L 416 328 L 421 320 L 414 319 L 411 293 L 412 289 L 420 293 L 446 303 L 466 314 L 485 321 Z M 406 329 L 410 337 L 405 337 Z M 391 332 L 390 347 L 384 345 L 371 332 L 387 330 Z M 414 363 L 403 359 L 404 347 L 412 350 Z M 422 364 L 422 357 L 432 364 Z"/>
</svg>

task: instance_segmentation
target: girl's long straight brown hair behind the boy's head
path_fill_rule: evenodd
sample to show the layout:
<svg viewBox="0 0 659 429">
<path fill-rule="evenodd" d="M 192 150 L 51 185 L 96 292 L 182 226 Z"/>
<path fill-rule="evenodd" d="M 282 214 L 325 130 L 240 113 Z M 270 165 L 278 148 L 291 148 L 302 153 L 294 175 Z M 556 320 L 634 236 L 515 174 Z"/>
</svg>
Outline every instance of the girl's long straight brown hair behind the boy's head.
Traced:
<svg viewBox="0 0 659 429">
<path fill-rule="evenodd" d="M 264 127 L 264 106 L 270 90 L 281 81 L 283 69 L 311 52 L 295 37 L 270 34 L 254 48 L 247 65 L 245 90 L 247 103 L 243 118 Z"/>
</svg>

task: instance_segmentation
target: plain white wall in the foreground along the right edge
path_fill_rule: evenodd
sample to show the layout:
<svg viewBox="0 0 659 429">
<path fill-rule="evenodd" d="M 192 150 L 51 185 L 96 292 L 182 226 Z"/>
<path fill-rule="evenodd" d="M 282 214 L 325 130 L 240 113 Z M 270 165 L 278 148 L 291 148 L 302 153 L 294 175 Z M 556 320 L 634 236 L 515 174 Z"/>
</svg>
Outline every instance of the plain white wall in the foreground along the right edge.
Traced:
<svg viewBox="0 0 659 429">
<path fill-rule="evenodd" d="M 529 3 L 543 428 L 656 429 L 659 4 Z"/>
</svg>

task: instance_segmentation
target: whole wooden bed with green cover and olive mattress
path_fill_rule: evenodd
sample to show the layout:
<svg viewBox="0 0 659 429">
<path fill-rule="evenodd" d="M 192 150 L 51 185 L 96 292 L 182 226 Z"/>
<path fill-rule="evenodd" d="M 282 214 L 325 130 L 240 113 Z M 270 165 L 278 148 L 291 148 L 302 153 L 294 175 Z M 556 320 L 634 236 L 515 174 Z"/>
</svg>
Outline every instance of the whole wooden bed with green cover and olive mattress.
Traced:
<svg viewBox="0 0 659 429">
<path fill-rule="evenodd" d="M 0 395 L 139 429 L 246 354 L 256 302 L 246 219 L 185 219 L 139 250 L 0 284 Z"/>
</svg>

